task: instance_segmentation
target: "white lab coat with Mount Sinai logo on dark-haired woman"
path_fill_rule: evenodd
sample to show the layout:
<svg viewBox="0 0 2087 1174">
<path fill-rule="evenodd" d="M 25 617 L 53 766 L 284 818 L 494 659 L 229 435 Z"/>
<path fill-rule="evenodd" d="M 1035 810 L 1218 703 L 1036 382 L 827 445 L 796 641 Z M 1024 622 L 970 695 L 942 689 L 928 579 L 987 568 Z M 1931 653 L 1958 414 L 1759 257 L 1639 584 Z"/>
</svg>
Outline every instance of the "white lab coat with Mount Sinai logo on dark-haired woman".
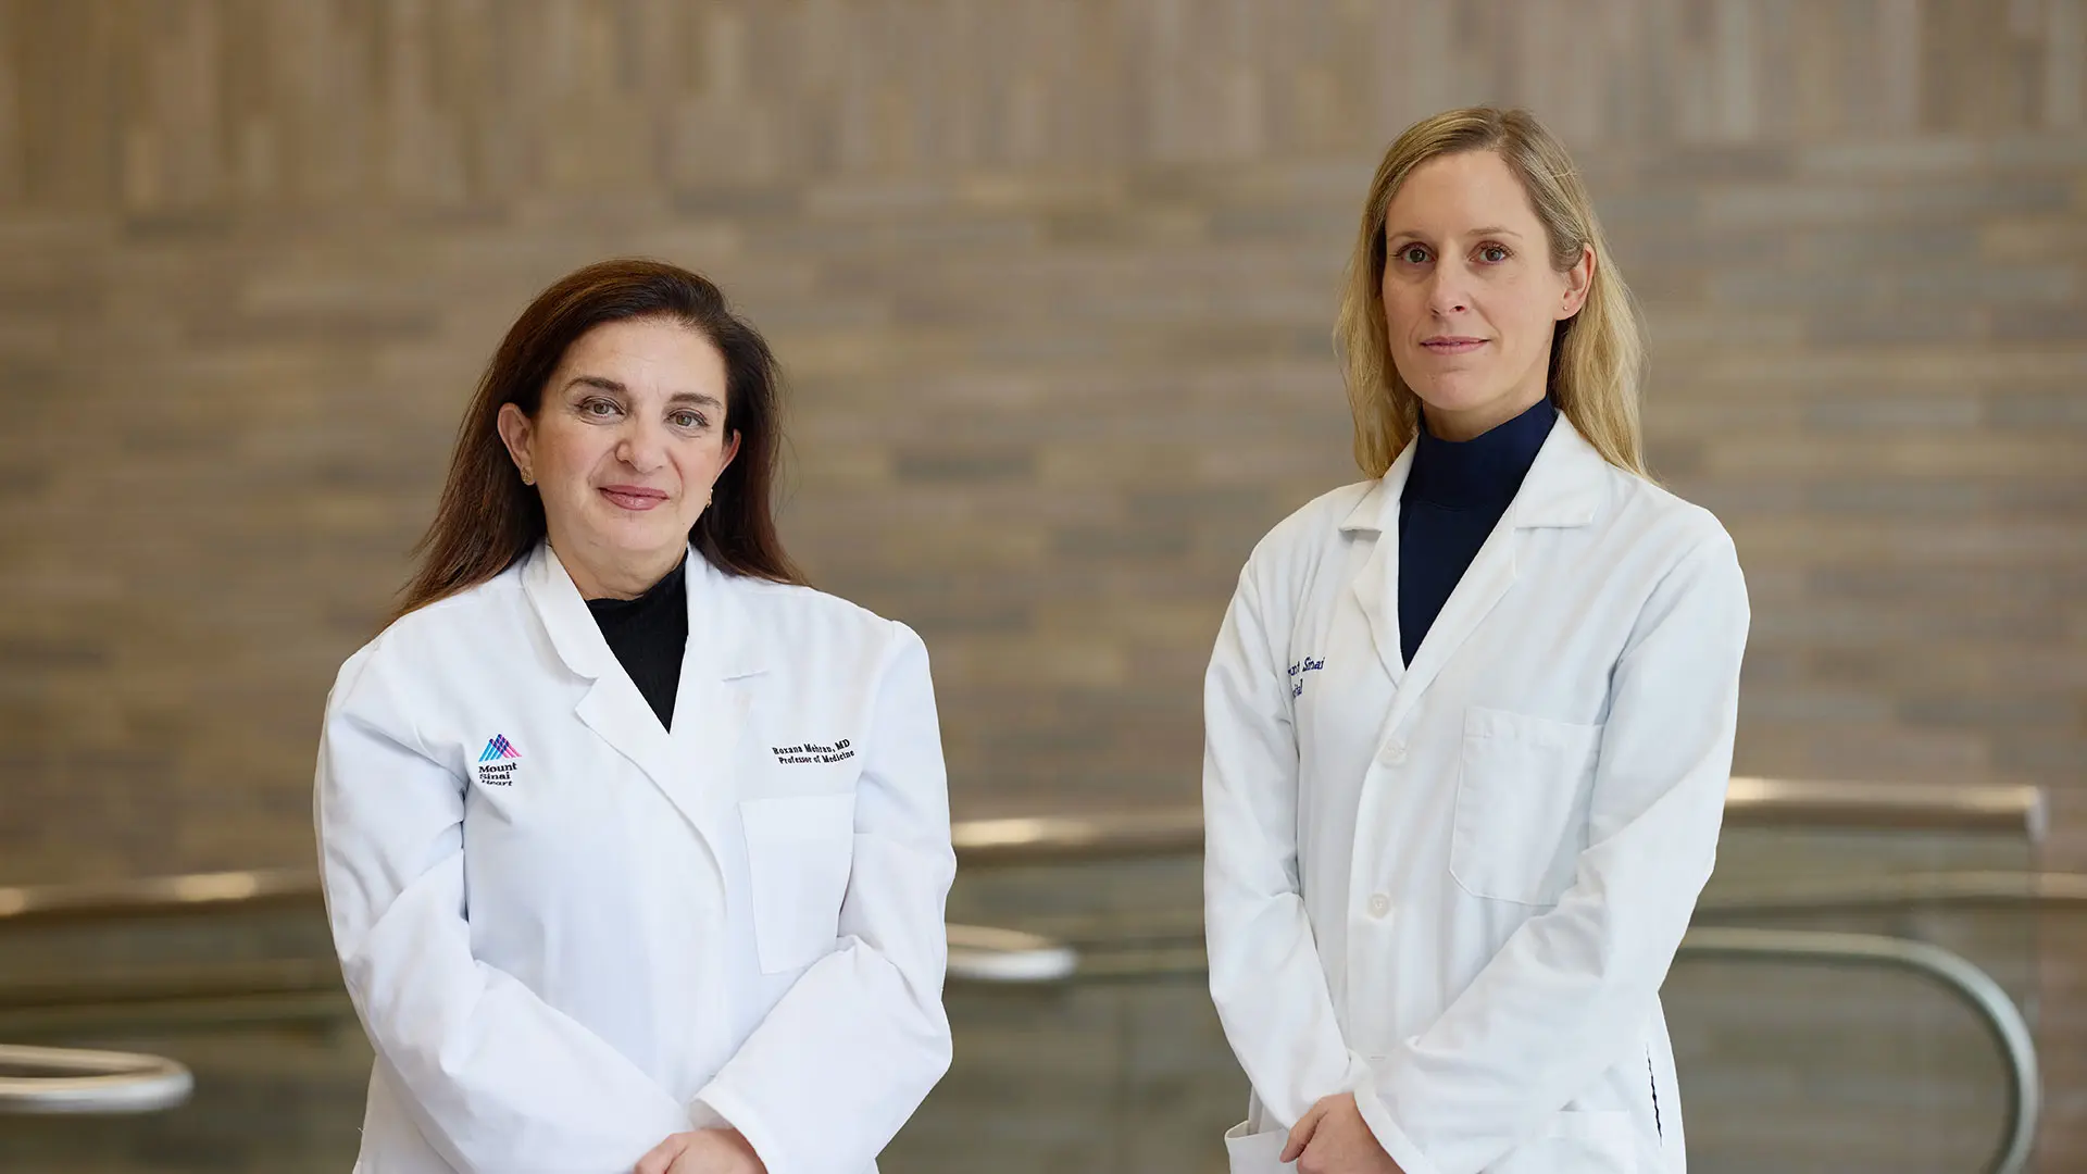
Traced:
<svg viewBox="0 0 2087 1174">
<path fill-rule="evenodd" d="M 860 1174 L 950 1063 L 927 650 L 689 556 L 672 733 L 549 547 L 390 625 L 317 829 L 376 1047 L 359 1174 L 620 1174 L 733 1124 Z"/>
</svg>

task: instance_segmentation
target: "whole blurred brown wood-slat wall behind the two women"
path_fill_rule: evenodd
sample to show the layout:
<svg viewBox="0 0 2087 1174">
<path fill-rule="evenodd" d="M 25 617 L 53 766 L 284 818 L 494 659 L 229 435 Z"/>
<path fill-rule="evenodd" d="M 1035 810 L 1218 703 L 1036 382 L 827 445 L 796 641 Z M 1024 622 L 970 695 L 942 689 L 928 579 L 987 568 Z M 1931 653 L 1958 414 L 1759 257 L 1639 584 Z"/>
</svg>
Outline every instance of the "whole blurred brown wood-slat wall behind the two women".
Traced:
<svg viewBox="0 0 2087 1174">
<path fill-rule="evenodd" d="M 0 884 L 311 859 L 480 363 L 624 253 L 776 343 L 785 537 L 927 639 L 958 815 L 1194 802 L 1233 574 L 1357 476 L 1365 184 L 1467 102 L 1645 305 L 1736 771 L 2041 783 L 2087 869 L 2083 0 L 0 0 Z"/>
</svg>

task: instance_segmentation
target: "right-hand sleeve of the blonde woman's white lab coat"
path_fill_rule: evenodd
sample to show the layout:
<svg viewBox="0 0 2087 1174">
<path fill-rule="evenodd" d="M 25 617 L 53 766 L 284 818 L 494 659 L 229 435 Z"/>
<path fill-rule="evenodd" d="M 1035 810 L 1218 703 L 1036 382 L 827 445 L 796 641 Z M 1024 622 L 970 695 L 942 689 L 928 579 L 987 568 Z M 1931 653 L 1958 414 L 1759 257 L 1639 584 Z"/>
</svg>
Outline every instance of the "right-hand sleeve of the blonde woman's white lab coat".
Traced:
<svg viewBox="0 0 2087 1174">
<path fill-rule="evenodd" d="M 1747 623 L 1724 531 L 1649 595 L 1609 683 L 1574 884 L 1357 1088 L 1407 1174 L 1486 1168 L 1642 1040 L 1716 861 Z"/>
</svg>

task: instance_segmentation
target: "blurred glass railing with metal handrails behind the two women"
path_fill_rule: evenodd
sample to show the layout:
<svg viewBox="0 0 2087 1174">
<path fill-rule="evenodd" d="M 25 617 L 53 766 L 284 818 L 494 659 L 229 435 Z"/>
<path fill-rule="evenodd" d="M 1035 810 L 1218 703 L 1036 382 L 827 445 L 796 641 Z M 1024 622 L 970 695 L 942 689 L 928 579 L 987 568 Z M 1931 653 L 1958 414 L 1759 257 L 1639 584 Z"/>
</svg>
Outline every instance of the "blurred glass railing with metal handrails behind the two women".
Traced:
<svg viewBox="0 0 2087 1174">
<path fill-rule="evenodd" d="M 1690 1168 L 2018 1170 L 2033 913 L 2087 909 L 2087 877 L 2031 869 L 2041 821 L 2024 788 L 1734 779 L 1665 988 Z M 958 1055 L 889 1174 L 1223 1168 L 1246 1082 L 1204 992 L 1200 827 L 1148 811 L 954 829 Z M 0 888 L 0 1042 L 194 1074 L 171 1111 L 4 1118 L 0 1170 L 353 1164 L 369 1051 L 309 873 Z M 0 1055 L 0 1076 L 56 1074 Z"/>
</svg>

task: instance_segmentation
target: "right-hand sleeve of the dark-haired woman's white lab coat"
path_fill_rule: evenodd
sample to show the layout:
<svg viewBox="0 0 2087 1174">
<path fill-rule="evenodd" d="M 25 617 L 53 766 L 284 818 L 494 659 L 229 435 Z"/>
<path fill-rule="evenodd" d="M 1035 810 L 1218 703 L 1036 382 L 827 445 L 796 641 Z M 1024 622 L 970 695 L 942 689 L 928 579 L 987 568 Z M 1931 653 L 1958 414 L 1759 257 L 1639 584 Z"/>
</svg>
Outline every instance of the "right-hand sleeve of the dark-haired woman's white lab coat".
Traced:
<svg viewBox="0 0 2087 1174">
<path fill-rule="evenodd" d="M 837 948 L 695 1099 L 697 1120 L 739 1128 L 768 1174 L 866 1170 L 950 1067 L 950 794 L 927 648 L 904 625 L 891 629 Z"/>
</svg>

